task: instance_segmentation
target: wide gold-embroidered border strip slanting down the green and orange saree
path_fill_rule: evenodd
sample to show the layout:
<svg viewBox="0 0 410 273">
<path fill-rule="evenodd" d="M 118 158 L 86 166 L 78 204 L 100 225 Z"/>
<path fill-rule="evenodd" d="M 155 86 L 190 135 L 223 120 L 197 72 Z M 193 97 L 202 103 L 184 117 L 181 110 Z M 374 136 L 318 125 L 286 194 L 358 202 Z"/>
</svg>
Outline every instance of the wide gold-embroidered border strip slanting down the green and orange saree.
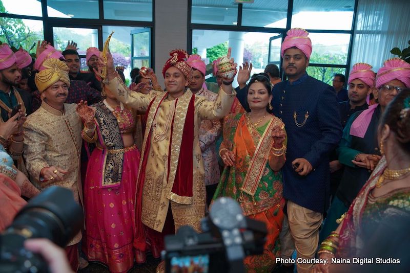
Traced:
<svg viewBox="0 0 410 273">
<path fill-rule="evenodd" d="M 269 122 L 268 127 L 263 132 L 261 140 L 259 141 L 258 146 L 256 147 L 255 153 L 252 157 L 252 160 L 249 164 L 247 175 L 243 180 L 241 191 L 254 196 L 258 188 L 259 181 L 262 177 L 263 170 L 268 162 L 269 156 L 260 156 L 260 154 L 269 155 L 269 151 L 272 149 L 273 139 L 271 138 L 272 129 L 275 126 L 279 126 L 282 122 L 273 117 Z"/>
</svg>

